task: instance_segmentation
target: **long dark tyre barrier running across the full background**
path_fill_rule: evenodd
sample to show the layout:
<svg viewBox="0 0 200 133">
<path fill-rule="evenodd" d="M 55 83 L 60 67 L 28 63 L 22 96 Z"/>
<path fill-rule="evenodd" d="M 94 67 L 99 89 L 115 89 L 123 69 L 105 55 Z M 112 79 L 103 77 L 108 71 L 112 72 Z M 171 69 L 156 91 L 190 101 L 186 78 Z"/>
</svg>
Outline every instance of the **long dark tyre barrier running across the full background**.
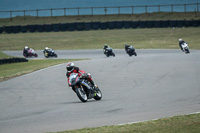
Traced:
<svg viewBox="0 0 200 133">
<path fill-rule="evenodd" d="M 19 32 L 58 32 L 58 31 L 84 31 L 123 28 L 167 28 L 167 27 L 198 27 L 200 20 L 156 20 L 156 21 L 108 21 L 108 22 L 78 22 L 63 24 L 24 25 L 0 27 L 0 33 Z"/>
</svg>

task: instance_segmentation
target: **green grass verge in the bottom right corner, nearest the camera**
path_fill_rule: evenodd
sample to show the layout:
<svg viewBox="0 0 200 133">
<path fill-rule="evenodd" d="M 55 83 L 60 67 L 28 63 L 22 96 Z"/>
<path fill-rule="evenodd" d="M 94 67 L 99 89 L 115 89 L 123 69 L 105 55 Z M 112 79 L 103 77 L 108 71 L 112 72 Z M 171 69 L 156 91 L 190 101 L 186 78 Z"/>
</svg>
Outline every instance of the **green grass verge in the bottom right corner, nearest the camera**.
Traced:
<svg viewBox="0 0 200 133">
<path fill-rule="evenodd" d="M 199 133 L 199 125 L 200 114 L 192 114 L 122 126 L 84 128 L 56 133 Z"/>
</svg>

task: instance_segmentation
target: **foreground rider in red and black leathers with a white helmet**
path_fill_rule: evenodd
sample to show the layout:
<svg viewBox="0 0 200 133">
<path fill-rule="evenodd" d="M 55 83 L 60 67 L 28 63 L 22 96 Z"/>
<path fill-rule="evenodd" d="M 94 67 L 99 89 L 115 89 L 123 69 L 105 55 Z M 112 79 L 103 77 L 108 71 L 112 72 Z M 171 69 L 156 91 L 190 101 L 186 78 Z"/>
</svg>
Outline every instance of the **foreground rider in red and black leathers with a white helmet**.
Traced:
<svg viewBox="0 0 200 133">
<path fill-rule="evenodd" d="M 68 63 L 67 63 L 66 69 L 67 69 L 66 76 L 67 76 L 67 78 L 68 78 L 68 85 L 69 85 L 69 77 L 70 77 L 70 75 L 71 75 L 72 73 L 78 73 L 78 76 L 79 76 L 79 77 L 85 76 L 86 79 L 92 84 L 92 86 L 93 86 L 94 88 L 97 87 L 97 85 L 96 85 L 96 84 L 94 83 L 94 81 L 92 80 L 91 75 L 90 75 L 90 74 L 86 74 L 85 71 L 83 71 L 83 70 L 80 70 L 79 67 L 77 67 L 77 66 L 74 65 L 74 63 L 68 62 Z M 72 88 L 72 89 L 74 90 L 74 88 Z M 74 90 L 74 91 L 75 91 L 75 90 Z"/>
</svg>

